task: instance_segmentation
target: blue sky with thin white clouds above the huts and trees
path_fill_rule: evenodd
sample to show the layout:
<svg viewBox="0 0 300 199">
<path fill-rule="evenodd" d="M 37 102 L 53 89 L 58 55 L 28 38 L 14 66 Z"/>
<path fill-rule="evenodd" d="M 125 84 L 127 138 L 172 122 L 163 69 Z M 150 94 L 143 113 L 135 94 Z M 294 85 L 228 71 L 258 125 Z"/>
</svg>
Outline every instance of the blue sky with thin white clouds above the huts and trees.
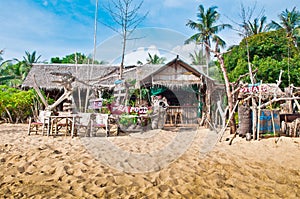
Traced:
<svg viewBox="0 0 300 199">
<path fill-rule="evenodd" d="M 42 55 L 42 60 L 47 61 L 51 57 L 63 57 L 74 52 L 90 54 L 93 50 L 95 2 L 96 0 L 0 0 L 0 49 L 5 51 L 2 57 L 22 59 L 25 51 L 34 50 Z M 99 21 L 112 24 L 103 8 L 108 2 L 99 0 Z M 141 14 L 147 11 L 149 14 L 139 28 L 173 31 L 177 38 L 182 39 L 181 36 L 188 38 L 195 31 L 185 24 L 189 19 L 196 20 L 197 7 L 200 4 L 205 8 L 217 6 L 221 14 L 220 23 L 232 24 L 230 20 L 241 21 L 239 17 L 241 4 L 253 6 L 255 2 L 254 0 L 144 0 Z M 264 8 L 268 22 L 271 19 L 278 21 L 278 14 L 286 8 L 291 10 L 296 6 L 299 10 L 300 7 L 299 0 L 260 0 L 256 4 L 256 13 Z M 168 31 L 163 34 L 167 34 Z M 228 45 L 238 44 L 240 41 L 240 37 L 233 30 L 224 31 L 221 35 Z M 114 31 L 98 23 L 99 51 L 115 37 Z M 156 38 L 159 41 L 164 37 L 158 35 Z M 174 39 L 174 43 L 178 41 Z M 148 41 L 148 44 L 151 42 Z M 119 49 L 120 46 L 113 47 Z M 165 46 L 156 47 L 165 48 Z"/>
</svg>

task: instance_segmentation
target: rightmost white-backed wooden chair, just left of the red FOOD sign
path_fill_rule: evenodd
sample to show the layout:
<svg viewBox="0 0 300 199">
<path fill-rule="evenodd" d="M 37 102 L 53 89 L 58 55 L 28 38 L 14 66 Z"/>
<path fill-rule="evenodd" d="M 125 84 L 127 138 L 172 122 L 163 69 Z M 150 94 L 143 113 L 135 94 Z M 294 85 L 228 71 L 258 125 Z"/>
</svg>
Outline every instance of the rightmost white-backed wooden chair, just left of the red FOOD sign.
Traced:
<svg viewBox="0 0 300 199">
<path fill-rule="evenodd" d="M 91 117 L 91 128 L 95 135 L 98 130 L 104 130 L 105 136 L 109 136 L 108 114 L 96 113 Z"/>
</svg>

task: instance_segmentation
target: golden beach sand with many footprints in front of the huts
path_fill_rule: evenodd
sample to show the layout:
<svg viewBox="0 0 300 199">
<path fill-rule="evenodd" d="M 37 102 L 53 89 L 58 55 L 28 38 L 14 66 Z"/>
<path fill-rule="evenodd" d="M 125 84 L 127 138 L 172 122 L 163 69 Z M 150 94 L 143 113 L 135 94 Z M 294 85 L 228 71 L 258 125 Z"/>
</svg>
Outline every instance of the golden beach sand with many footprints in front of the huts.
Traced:
<svg viewBox="0 0 300 199">
<path fill-rule="evenodd" d="M 26 124 L 1 124 L 0 198 L 300 198 L 299 138 L 248 142 L 237 137 L 229 145 L 226 138 L 232 135 L 225 134 L 213 147 L 207 130 L 193 131 L 186 151 L 176 154 L 180 146 L 170 145 L 178 157 L 162 152 L 170 155 L 158 158 L 166 164 L 151 170 L 151 155 L 136 163 L 130 158 L 159 152 L 176 132 L 54 138 L 28 136 Z M 128 165 L 145 165 L 149 172 L 107 165 L 97 150 L 107 158 L 120 157 L 106 145 L 87 144 L 87 139 L 98 145 L 97 139 L 109 140 L 118 150 L 130 152 Z"/>
</svg>

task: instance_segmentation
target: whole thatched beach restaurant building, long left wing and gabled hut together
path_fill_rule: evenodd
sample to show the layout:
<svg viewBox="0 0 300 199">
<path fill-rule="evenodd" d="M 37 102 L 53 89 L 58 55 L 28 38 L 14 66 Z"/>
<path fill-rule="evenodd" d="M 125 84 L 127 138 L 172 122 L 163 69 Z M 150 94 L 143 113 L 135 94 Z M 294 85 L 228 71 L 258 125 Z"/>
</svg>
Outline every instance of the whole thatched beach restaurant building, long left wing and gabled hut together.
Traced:
<svg viewBox="0 0 300 199">
<path fill-rule="evenodd" d="M 86 98 L 87 90 L 114 88 L 119 77 L 118 66 L 34 64 L 22 87 L 32 88 L 36 82 L 48 96 L 57 99 L 63 86 L 59 84 L 61 77 L 54 73 L 75 77 L 72 87 L 76 107 L 90 99 L 90 95 Z M 197 124 L 204 115 L 210 123 L 222 123 L 222 110 L 217 104 L 224 101 L 224 86 L 203 74 L 199 66 L 192 67 L 177 57 L 167 64 L 126 67 L 123 78 L 123 81 L 135 80 L 135 88 L 147 88 L 151 95 L 168 100 L 169 125 Z"/>
</svg>

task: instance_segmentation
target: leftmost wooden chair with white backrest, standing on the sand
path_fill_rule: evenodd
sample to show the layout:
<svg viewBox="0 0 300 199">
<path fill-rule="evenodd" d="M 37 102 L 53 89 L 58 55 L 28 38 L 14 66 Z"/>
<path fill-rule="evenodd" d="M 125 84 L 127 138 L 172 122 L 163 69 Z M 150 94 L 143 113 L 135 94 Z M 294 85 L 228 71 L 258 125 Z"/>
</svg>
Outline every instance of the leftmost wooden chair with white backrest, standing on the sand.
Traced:
<svg viewBox="0 0 300 199">
<path fill-rule="evenodd" d="M 29 118 L 28 124 L 28 135 L 31 132 L 35 132 L 37 134 L 39 131 L 42 132 L 42 135 L 47 133 L 49 127 L 49 117 L 51 116 L 51 111 L 39 111 L 39 115 L 36 121 L 33 121 L 33 118 Z"/>
</svg>

